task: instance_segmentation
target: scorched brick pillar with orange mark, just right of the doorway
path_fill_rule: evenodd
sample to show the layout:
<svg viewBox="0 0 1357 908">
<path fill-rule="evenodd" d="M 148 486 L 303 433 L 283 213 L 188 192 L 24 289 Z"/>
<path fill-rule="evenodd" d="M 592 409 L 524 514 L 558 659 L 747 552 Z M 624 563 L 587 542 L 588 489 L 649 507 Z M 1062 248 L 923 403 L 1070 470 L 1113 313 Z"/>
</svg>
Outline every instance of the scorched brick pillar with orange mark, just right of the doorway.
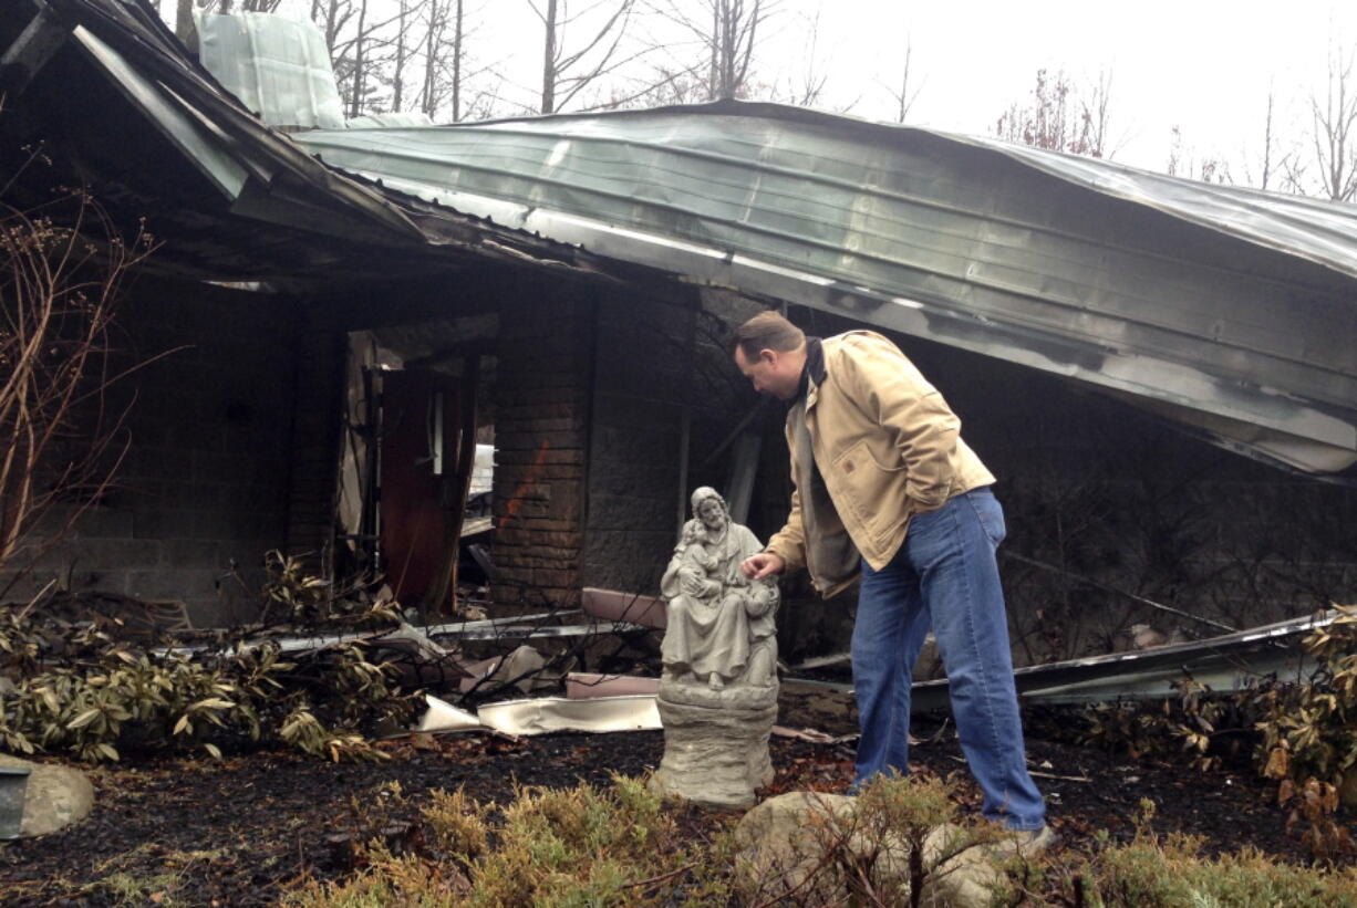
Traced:
<svg viewBox="0 0 1357 908">
<path fill-rule="evenodd" d="M 579 600 L 585 453 L 594 304 L 558 294 L 505 304 L 495 365 L 491 598 L 505 604 Z"/>
</svg>

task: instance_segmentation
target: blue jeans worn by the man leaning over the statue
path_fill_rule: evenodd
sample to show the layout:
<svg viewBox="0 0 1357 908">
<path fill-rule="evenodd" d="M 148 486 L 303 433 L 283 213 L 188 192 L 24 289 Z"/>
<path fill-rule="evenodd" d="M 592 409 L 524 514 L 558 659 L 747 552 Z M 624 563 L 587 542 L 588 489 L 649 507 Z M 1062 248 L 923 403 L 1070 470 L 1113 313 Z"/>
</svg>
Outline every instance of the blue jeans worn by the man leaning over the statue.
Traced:
<svg viewBox="0 0 1357 908">
<path fill-rule="evenodd" d="M 1037 829 L 1046 821 L 1046 806 L 1023 752 L 995 562 L 1003 538 L 1003 508 L 981 488 L 916 515 L 900 552 L 881 571 L 863 561 L 852 633 L 862 726 L 854 789 L 877 772 L 909 771 L 909 686 L 931 623 L 961 749 L 985 796 L 984 814 L 1012 829 Z"/>
</svg>

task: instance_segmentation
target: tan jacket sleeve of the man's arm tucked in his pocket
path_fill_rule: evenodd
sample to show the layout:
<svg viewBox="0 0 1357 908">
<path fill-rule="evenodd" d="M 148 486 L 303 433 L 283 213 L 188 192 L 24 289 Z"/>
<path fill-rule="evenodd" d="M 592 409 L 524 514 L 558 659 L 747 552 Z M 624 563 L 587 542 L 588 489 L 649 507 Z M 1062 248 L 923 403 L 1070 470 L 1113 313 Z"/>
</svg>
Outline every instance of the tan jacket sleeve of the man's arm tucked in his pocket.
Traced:
<svg viewBox="0 0 1357 908">
<path fill-rule="evenodd" d="M 931 511 L 947 503 L 961 420 L 913 363 L 885 337 L 845 339 L 839 381 L 894 436 L 908 470 L 905 493 Z"/>
</svg>

